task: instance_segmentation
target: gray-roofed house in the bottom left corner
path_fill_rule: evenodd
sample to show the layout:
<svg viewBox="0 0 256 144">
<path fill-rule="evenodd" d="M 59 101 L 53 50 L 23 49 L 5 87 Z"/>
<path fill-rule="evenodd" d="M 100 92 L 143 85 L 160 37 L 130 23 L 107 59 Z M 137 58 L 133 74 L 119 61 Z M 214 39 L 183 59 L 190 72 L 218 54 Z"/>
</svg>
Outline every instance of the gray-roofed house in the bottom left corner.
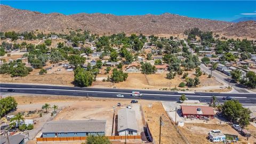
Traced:
<svg viewBox="0 0 256 144">
<path fill-rule="evenodd" d="M 0 144 L 25 144 L 25 135 L 16 134 L 7 136 L 0 136 Z"/>
</svg>

